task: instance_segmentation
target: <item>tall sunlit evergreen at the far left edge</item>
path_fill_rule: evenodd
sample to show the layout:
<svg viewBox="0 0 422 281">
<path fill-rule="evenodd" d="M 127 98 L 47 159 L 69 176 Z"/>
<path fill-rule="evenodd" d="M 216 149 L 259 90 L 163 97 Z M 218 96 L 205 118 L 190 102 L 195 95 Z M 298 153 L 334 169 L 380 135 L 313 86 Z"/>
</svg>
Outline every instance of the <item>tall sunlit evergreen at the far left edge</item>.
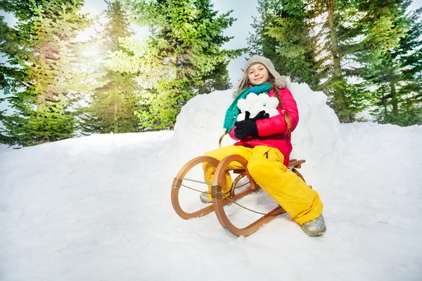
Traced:
<svg viewBox="0 0 422 281">
<path fill-rule="evenodd" d="M 16 27 L 1 18 L 1 85 L 13 108 L 1 114 L 1 143 L 36 145 L 73 136 L 74 118 L 68 107 L 72 67 L 77 64 L 72 43 L 88 25 L 80 15 L 79 0 L 1 1 L 0 8 L 13 13 Z"/>
</svg>

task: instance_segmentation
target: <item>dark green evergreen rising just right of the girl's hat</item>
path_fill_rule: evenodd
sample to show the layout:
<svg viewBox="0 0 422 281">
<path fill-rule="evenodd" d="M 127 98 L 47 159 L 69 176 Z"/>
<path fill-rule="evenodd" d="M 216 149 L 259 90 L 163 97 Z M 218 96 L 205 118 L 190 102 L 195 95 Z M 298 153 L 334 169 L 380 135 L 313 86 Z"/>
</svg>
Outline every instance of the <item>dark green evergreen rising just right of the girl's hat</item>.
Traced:
<svg viewBox="0 0 422 281">
<path fill-rule="evenodd" d="M 312 37 L 312 11 L 305 1 L 258 0 L 260 19 L 252 24 L 249 54 L 271 58 L 276 70 L 292 81 L 315 89 L 321 77 L 316 72 L 316 37 Z"/>
</svg>

